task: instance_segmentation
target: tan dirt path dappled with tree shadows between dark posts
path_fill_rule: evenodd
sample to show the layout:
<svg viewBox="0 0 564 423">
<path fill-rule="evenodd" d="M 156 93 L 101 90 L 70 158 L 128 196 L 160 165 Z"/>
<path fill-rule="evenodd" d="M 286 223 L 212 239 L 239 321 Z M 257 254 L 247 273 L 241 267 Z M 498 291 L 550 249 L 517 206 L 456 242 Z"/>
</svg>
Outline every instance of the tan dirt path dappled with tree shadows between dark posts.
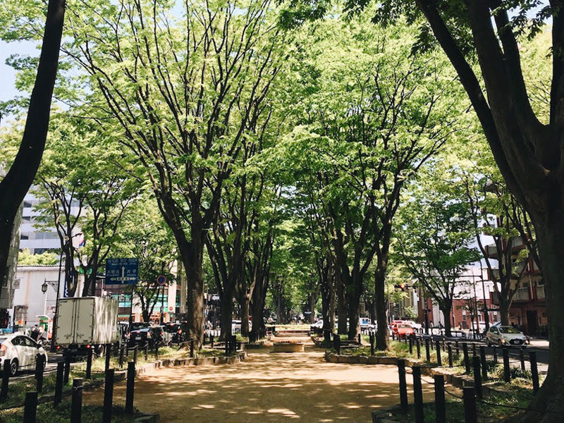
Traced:
<svg viewBox="0 0 564 423">
<path fill-rule="evenodd" d="M 430 400 L 432 386 L 423 385 Z M 125 384 L 115 393 L 114 403 L 125 403 Z M 102 400 L 85 393 L 85 403 Z M 397 367 L 327 363 L 310 346 L 298 354 L 250 350 L 240 364 L 157 369 L 135 381 L 135 406 L 164 423 L 368 423 L 371 410 L 398 403 Z"/>
</svg>

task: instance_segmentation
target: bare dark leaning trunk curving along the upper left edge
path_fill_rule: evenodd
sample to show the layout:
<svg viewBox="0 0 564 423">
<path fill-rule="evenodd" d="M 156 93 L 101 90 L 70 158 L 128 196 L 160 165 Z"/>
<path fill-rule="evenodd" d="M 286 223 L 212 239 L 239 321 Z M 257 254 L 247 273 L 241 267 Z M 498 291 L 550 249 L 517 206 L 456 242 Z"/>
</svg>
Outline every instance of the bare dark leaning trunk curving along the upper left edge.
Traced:
<svg viewBox="0 0 564 423">
<path fill-rule="evenodd" d="M 65 0 L 49 0 L 37 76 L 30 97 L 22 143 L 8 173 L 0 181 L 0 281 L 7 275 L 13 224 L 43 157 L 51 98 L 59 66 Z"/>
</svg>

